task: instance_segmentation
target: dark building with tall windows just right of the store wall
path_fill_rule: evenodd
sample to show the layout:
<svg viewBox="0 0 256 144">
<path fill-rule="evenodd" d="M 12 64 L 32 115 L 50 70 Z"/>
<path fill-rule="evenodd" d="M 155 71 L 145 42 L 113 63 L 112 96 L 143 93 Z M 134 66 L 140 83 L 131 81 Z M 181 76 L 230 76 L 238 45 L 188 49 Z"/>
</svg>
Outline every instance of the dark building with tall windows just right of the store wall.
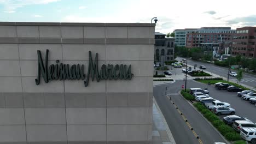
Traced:
<svg viewBox="0 0 256 144">
<path fill-rule="evenodd" d="M 174 59 L 174 38 L 165 38 L 166 34 L 155 32 L 155 62 L 172 61 Z"/>
</svg>

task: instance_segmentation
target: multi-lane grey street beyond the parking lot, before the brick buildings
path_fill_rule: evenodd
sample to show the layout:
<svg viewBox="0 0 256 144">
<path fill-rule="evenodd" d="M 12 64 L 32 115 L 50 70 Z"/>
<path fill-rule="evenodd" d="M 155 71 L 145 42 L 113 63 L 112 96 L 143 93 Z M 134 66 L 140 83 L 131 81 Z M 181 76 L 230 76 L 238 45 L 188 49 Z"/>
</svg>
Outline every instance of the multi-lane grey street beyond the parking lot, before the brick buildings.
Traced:
<svg viewBox="0 0 256 144">
<path fill-rule="evenodd" d="M 177 57 L 176 59 L 177 59 L 177 61 L 181 61 L 183 58 Z M 228 68 L 219 67 L 219 66 L 211 64 L 211 63 L 194 61 L 192 59 L 188 59 L 188 64 L 189 65 L 197 64 L 197 68 L 199 68 L 200 65 L 205 65 L 207 71 L 211 71 L 214 74 L 217 74 L 217 75 L 220 75 L 220 76 L 223 76 L 226 78 L 228 77 Z M 231 71 L 236 71 L 236 70 L 231 69 Z M 236 80 L 236 77 L 229 76 L 229 79 Z M 241 83 L 243 83 L 244 85 L 251 86 L 251 87 L 256 87 L 256 75 L 243 73 L 243 79 L 241 80 Z"/>
</svg>

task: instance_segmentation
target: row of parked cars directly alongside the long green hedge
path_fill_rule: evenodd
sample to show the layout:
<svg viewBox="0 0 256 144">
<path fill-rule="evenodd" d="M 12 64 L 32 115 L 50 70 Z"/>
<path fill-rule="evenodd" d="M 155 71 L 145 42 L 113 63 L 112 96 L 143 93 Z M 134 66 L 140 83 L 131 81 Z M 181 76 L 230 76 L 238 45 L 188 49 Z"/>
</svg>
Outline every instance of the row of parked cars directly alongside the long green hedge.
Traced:
<svg viewBox="0 0 256 144">
<path fill-rule="evenodd" d="M 252 93 L 250 91 L 238 92 L 237 95 L 245 95 Z M 256 123 L 252 122 L 246 117 L 235 115 L 235 109 L 232 109 L 229 103 L 213 99 L 209 95 L 207 89 L 201 88 L 190 88 L 190 94 L 192 94 L 196 101 L 199 101 L 210 109 L 216 115 L 230 114 L 223 118 L 223 122 L 232 125 L 237 132 L 240 133 L 241 137 L 251 143 L 256 143 Z M 250 98 L 251 99 L 251 98 Z"/>
</svg>

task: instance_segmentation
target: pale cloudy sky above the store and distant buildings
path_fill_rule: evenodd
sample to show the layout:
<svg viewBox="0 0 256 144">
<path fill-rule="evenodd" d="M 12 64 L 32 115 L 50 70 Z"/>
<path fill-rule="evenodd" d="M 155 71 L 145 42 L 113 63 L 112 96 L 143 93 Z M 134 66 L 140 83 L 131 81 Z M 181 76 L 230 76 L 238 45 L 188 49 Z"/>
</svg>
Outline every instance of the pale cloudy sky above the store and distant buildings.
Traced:
<svg viewBox="0 0 256 144">
<path fill-rule="evenodd" d="M 0 21 L 150 23 L 155 32 L 256 26 L 255 0 L 0 0 Z M 154 21 L 153 21 L 154 22 Z"/>
</svg>

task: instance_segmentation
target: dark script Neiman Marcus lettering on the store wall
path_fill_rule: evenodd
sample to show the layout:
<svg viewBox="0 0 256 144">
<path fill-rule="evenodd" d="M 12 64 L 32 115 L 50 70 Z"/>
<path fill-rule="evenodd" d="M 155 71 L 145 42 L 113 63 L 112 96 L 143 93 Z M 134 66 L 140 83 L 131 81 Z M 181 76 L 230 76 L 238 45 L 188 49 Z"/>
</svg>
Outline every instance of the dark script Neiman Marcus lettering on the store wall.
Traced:
<svg viewBox="0 0 256 144">
<path fill-rule="evenodd" d="M 96 53 L 94 61 L 92 60 L 91 51 L 89 51 L 89 65 L 87 75 L 84 73 L 84 64 L 63 64 L 56 61 L 56 64 L 51 64 L 48 67 L 48 54 L 46 50 L 45 61 L 43 62 L 41 51 L 37 51 L 38 56 L 38 75 L 36 85 L 40 84 L 41 76 L 45 83 L 51 80 L 84 80 L 84 86 L 89 84 L 89 78 L 97 82 L 101 80 L 131 80 L 133 74 L 131 73 L 131 65 L 126 64 L 103 64 L 101 69 L 98 69 L 98 53 Z"/>
</svg>

